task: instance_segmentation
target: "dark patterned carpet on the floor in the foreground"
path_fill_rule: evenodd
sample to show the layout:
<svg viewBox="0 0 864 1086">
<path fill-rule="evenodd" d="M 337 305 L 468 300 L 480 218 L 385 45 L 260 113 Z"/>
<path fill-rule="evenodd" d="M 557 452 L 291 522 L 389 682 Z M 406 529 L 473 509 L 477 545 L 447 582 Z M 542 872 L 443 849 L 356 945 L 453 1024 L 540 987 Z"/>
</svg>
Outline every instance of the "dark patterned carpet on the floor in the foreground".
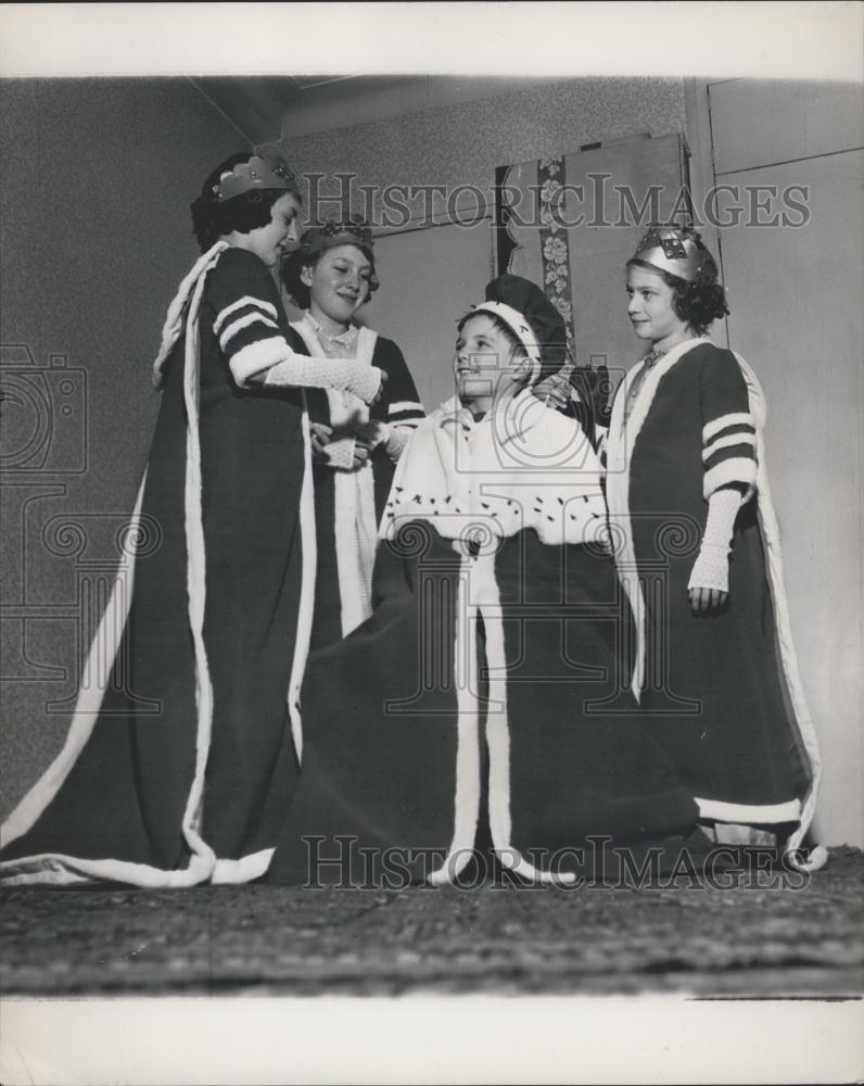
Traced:
<svg viewBox="0 0 864 1086">
<path fill-rule="evenodd" d="M 860 850 L 801 888 L 8 889 L 3 996 L 864 992 Z M 728 877 L 732 875 L 727 873 Z"/>
</svg>

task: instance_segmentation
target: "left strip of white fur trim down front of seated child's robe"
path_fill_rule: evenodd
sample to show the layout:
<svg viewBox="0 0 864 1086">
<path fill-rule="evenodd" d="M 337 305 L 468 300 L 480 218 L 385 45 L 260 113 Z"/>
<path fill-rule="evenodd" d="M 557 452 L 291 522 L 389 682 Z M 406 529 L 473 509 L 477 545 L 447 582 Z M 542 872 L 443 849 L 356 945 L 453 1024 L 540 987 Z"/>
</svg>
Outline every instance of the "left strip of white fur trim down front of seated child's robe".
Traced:
<svg viewBox="0 0 864 1086">
<path fill-rule="evenodd" d="M 471 569 L 462 559 L 456 597 L 453 674 L 456 684 L 456 787 L 453 839 L 444 862 L 430 872 L 433 885 L 454 882 L 471 858 L 480 813 L 480 712 L 478 705 L 477 608 L 469 604 Z"/>
</svg>

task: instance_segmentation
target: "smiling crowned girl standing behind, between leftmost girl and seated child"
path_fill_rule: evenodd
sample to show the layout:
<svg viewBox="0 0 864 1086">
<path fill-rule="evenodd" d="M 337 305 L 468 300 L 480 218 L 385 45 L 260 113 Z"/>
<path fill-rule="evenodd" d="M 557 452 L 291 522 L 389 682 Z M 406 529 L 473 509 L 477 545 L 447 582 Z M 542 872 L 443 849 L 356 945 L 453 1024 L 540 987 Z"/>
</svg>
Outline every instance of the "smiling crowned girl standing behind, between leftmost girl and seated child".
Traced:
<svg viewBox="0 0 864 1086">
<path fill-rule="evenodd" d="M 282 274 L 289 296 L 304 310 L 292 328 L 309 354 L 350 359 L 360 370 L 377 366 L 386 375 L 372 407 L 346 390 L 307 393 L 316 452 L 315 649 L 340 641 L 372 613 L 378 522 L 394 465 L 423 407 L 398 346 L 354 319 L 378 289 L 367 228 L 353 222 L 312 227 Z"/>
</svg>

